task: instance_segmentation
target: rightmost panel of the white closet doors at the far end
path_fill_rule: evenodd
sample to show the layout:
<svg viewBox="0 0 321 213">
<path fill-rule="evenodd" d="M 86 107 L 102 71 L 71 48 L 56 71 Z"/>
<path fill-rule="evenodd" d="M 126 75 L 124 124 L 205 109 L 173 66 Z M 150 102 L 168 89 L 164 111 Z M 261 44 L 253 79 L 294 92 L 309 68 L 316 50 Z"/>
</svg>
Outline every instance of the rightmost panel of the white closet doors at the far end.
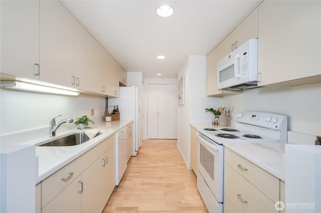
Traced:
<svg viewBox="0 0 321 213">
<path fill-rule="evenodd" d="M 177 84 L 170 84 L 169 85 L 169 133 L 168 138 L 169 139 L 177 139 L 177 105 L 178 105 L 178 99 L 177 99 Z"/>
</svg>

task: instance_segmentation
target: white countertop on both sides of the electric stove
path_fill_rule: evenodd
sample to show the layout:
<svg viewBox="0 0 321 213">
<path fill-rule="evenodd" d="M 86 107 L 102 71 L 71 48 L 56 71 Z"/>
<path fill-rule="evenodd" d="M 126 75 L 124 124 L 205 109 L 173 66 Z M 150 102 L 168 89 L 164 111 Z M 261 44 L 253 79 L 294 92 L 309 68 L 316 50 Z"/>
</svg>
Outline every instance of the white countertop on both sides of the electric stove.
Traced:
<svg viewBox="0 0 321 213">
<path fill-rule="evenodd" d="M 191 122 L 195 128 L 227 128 L 233 126 L 212 125 L 212 123 Z M 224 143 L 223 145 L 277 178 L 285 181 L 285 144 L 286 141 L 275 142 L 237 142 Z"/>
</svg>

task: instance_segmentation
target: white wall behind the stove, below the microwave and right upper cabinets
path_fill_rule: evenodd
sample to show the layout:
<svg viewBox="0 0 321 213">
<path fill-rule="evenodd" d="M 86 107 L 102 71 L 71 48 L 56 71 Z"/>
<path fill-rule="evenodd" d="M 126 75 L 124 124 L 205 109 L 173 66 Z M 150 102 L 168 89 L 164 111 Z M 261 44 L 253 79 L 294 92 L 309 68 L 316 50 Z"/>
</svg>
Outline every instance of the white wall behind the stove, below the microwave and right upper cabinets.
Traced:
<svg viewBox="0 0 321 213">
<path fill-rule="evenodd" d="M 321 135 L 321 83 L 295 87 L 260 87 L 223 97 L 231 118 L 245 110 L 269 111 L 288 116 L 288 130 Z"/>
</svg>

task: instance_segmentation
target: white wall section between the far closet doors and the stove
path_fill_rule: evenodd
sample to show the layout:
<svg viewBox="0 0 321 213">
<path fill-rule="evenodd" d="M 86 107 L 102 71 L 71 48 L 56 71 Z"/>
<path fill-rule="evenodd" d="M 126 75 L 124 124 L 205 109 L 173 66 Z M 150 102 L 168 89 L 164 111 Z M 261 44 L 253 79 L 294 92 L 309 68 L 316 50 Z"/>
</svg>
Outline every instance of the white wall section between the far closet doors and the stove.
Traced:
<svg viewBox="0 0 321 213">
<path fill-rule="evenodd" d="M 178 106 L 178 148 L 188 168 L 190 167 L 190 122 L 211 122 L 213 113 L 205 108 L 218 108 L 222 98 L 206 96 L 206 56 L 190 55 L 178 72 L 185 76 L 185 104 Z"/>
</svg>

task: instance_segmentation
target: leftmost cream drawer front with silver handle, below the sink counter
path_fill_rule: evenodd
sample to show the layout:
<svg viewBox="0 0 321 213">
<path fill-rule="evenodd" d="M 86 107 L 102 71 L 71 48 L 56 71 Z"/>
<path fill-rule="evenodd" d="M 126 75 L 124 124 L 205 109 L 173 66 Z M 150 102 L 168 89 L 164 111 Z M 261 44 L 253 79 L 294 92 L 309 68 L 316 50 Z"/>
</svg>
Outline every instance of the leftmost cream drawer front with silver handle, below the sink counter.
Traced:
<svg viewBox="0 0 321 213">
<path fill-rule="evenodd" d="M 83 156 L 71 161 L 41 182 L 41 208 L 45 207 L 57 194 L 66 188 L 74 179 L 77 178 L 85 169 L 83 166 Z M 68 179 L 66 178 L 73 172 Z"/>
</svg>

